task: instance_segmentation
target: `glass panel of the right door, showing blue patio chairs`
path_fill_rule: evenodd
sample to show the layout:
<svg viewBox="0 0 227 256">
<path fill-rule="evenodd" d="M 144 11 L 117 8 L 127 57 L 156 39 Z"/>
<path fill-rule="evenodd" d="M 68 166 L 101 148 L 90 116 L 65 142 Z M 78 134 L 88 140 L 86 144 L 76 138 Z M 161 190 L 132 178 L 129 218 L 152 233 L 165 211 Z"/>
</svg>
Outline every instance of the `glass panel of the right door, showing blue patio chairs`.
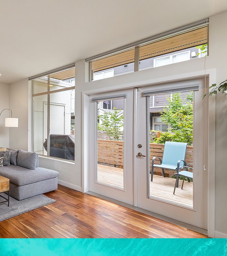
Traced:
<svg viewBox="0 0 227 256">
<path fill-rule="evenodd" d="M 186 176 L 179 175 L 175 194 L 173 191 L 177 178 L 177 162 L 185 160 L 186 164 L 193 164 L 193 97 L 193 92 L 163 94 L 160 95 L 163 106 L 161 109 L 156 110 L 149 104 L 149 197 L 189 208 L 193 208 L 193 169 L 188 168 L 186 172 L 180 173 Z M 150 96 L 150 102 L 153 98 Z M 170 142 L 170 146 L 165 142 Z M 174 142 L 177 144 L 173 145 Z M 182 142 L 187 144 L 181 144 Z M 183 165 L 185 164 L 181 162 L 180 167 Z M 184 170 L 185 168 L 180 169 Z"/>
</svg>

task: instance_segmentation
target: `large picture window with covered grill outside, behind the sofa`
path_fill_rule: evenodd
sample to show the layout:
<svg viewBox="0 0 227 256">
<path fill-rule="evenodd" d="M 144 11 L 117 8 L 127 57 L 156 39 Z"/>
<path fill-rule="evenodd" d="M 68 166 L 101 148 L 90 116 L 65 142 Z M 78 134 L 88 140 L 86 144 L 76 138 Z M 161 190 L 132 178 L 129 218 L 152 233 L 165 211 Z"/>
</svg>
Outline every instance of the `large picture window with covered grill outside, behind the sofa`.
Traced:
<svg viewBox="0 0 227 256">
<path fill-rule="evenodd" d="M 33 80 L 33 151 L 75 160 L 75 68 Z"/>
</svg>

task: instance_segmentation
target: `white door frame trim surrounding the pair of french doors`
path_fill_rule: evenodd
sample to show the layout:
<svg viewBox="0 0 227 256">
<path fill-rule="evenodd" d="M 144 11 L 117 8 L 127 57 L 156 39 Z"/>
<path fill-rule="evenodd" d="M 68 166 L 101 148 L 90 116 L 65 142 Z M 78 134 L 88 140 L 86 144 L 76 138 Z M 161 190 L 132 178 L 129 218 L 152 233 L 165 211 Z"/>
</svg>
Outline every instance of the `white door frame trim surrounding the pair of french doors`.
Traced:
<svg viewBox="0 0 227 256">
<path fill-rule="evenodd" d="M 120 84 L 112 87 L 99 88 L 89 91 L 82 91 L 81 103 L 81 186 L 82 192 L 86 193 L 89 189 L 88 184 L 88 124 L 89 124 L 89 95 L 99 92 L 107 92 L 113 90 L 122 90 L 127 88 L 145 87 L 159 83 L 175 82 L 180 80 L 188 80 L 195 77 L 204 77 L 208 75 L 209 84 L 216 82 L 216 69 L 201 70 L 191 73 L 185 73 L 174 76 L 160 77 L 146 81 Z M 135 114 L 135 113 L 134 113 Z M 214 237 L 215 232 L 215 97 L 208 100 L 208 236 Z M 134 146 L 136 145 L 134 141 Z M 134 150 L 135 152 L 135 150 Z M 135 156 L 134 156 L 135 158 Z M 134 170 L 135 173 L 136 170 Z"/>
</svg>

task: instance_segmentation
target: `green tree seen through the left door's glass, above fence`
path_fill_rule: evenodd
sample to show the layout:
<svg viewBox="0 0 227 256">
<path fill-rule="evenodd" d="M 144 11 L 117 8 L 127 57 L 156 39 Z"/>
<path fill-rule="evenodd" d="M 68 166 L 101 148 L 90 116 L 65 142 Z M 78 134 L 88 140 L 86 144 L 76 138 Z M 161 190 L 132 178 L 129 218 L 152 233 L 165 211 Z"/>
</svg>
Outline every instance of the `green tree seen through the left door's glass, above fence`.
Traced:
<svg viewBox="0 0 227 256">
<path fill-rule="evenodd" d="M 122 133 L 121 128 L 124 126 L 124 115 L 121 109 L 113 108 L 113 112 L 104 112 L 99 115 L 102 124 L 99 124 L 99 129 L 106 131 L 110 140 L 120 140 Z"/>
</svg>

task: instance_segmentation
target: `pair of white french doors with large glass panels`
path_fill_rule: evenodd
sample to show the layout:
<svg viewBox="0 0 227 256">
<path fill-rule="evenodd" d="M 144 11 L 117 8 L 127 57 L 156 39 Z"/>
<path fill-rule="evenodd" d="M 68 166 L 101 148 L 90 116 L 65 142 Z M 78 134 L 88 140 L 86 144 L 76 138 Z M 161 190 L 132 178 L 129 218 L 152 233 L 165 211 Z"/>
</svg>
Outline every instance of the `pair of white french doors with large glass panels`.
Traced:
<svg viewBox="0 0 227 256">
<path fill-rule="evenodd" d="M 90 95 L 89 191 L 207 229 L 204 93 L 204 80 L 194 79 Z M 151 181 L 165 141 L 187 143 L 178 160 L 193 163 L 193 178 L 182 187 L 181 176 L 175 194 L 176 170 L 154 168 Z"/>
</svg>

